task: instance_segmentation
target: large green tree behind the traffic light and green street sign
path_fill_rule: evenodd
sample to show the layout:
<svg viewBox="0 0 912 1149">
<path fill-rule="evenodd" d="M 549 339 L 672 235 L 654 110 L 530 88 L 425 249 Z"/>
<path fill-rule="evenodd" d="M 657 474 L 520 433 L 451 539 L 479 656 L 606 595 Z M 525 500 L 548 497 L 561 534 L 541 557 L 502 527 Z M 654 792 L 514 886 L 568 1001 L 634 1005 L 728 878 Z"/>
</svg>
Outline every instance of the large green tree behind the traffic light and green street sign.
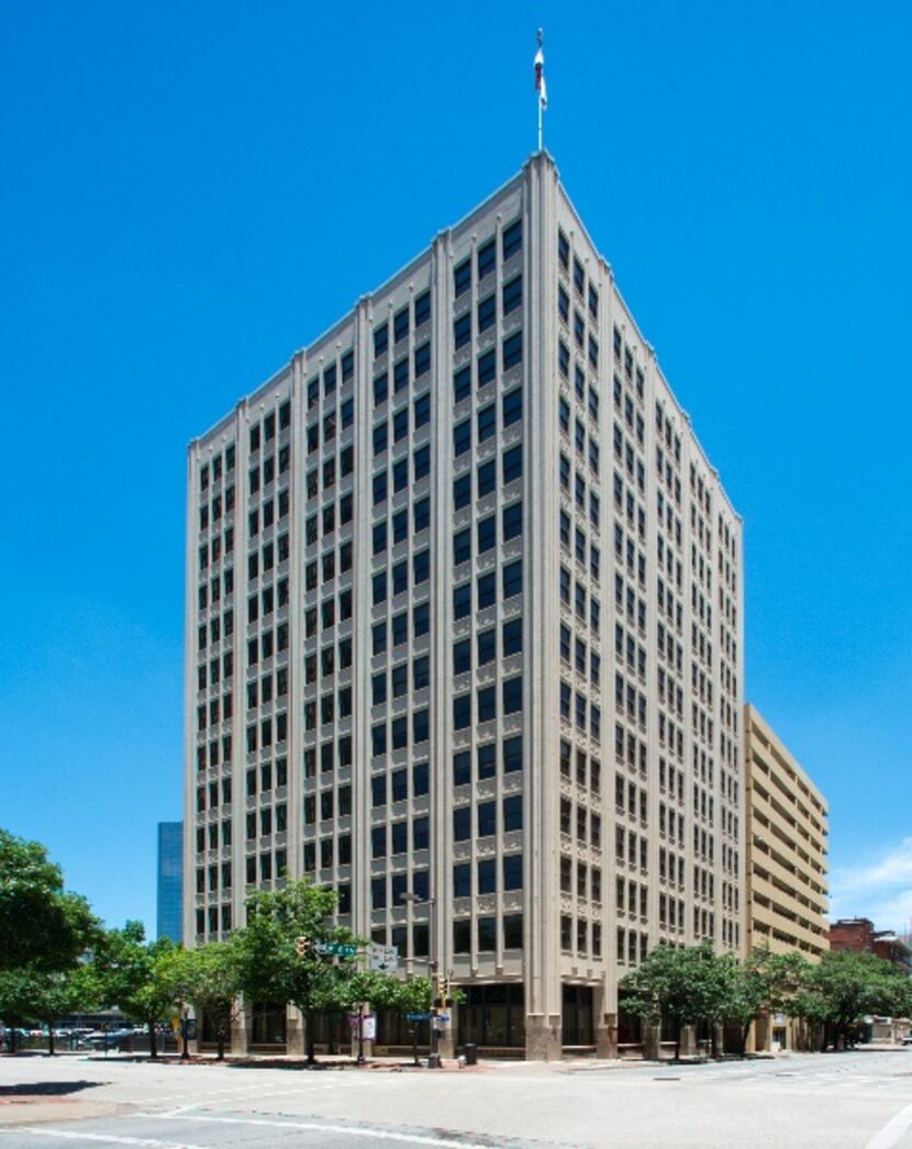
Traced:
<svg viewBox="0 0 912 1149">
<path fill-rule="evenodd" d="M 352 1001 L 348 982 L 357 972 L 355 957 L 334 957 L 328 943 L 360 947 L 363 939 L 332 924 L 337 905 L 334 889 L 314 886 L 306 878 L 283 889 L 258 890 L 247 901 L 247 925 L 237 936 L 240 985 L 250 1001 L 288 1003 L 307 1024 L 307 1059 L 314 1061 L 314 1016 L 337 1011 Z M 306 939 L 298 955 L 298 939 Z"/>
</svg>

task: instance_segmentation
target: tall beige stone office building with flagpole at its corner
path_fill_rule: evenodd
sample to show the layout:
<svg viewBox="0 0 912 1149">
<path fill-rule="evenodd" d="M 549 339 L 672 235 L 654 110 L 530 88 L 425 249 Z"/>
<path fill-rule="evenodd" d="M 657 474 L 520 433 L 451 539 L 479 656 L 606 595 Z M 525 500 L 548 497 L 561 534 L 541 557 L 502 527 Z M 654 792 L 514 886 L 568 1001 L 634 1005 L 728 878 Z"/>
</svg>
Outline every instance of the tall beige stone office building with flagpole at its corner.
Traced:
<svg viewBox="0 0 912 1149">
<path fill-rule="evenodd" d="M 741 523 L 550 156 L 187 489 L 189 939 L 309 874 L 534 1057 L 611 1048 L 652 946 L 741 949 Z"/>
</svg>

